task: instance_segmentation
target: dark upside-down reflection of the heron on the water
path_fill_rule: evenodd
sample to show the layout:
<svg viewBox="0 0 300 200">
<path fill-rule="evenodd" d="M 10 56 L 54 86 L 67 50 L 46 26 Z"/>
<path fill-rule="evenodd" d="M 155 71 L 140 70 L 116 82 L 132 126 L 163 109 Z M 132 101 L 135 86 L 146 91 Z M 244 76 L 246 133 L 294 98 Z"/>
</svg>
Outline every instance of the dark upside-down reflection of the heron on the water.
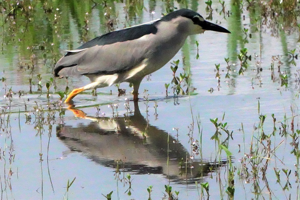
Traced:
<svg viewBox="0 0 300 200">
<path fill-rule="evenodd" d="M 188 162 L 186 170 L 185 161 L 190 160 L 190 154 L 170 135 L 168 166 L 168 133 L 147 124 L 137 102 L 134 115 L 129 117 L 89 117 L 78 109 L 68 109 L 92 122 L 78 127 L 57 126 L 57 137 L 71 150 L 84 153 L 100 165 L 115 168 L 115 161 L 122 160 L 125 164 L 120 168 L 124 167 L 127 173 L 163 174 L 175 182 L 195 183 L 210 174 L 209 168 L 214 171 L 225 164 L 211 165 L 198 160 Z"/>
</svg>

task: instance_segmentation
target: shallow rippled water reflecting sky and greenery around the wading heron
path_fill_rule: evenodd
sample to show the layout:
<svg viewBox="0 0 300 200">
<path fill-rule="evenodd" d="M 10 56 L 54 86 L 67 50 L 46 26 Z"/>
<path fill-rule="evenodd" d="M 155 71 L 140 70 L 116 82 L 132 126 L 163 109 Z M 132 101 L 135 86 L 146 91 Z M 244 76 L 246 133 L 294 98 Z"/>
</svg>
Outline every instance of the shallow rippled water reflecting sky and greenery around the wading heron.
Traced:
<svg viewBox="0 0 300 200">
<path fill-rule="evenodd" d="M 291 12 L 282 11 L 278 19 L 263 18 L 257 2 L 243 2 L 242 6 L 237 1 L 225 1 L 228 17 L 219 14 L 222 6 L 213 1 L 211 22 L 220 23 L 232 34 L 206 31 L 190 36 L 170 61 L 180 60 L 177 76 L 190 74 L 190 96 L 174 97 L 171 83 L 166 97 L 164 84 L 173 78 L 169 62 L 148 80 L 144 78 L 140 86 L 140 97 L 144 98 L 137 104 L 125 100 L 132 99 L 132 89 L 128 83 L 121 83 L 125 95 L 118 96 L 115 86 L 97 89 L 97 96 L 84 92 L 74 98 L 72 110 L 59 101 L 58 92 L 65 91 L 65 79 L 56 79 L 47 97 L 46 83 L 53 77 L 52 68 L 63 49 L 75 49 L 83 41 L 106 33 L 109 28 L 105 24 L 116 17 L 114 29 L 157 19 L 173 5 L 187 6 L 208 17 L 206 4 L 110 1 L 93 7 L 93 2 L 25 1 L 23 11 L 19 8 L 15 19 L 7 16 L 5 5 L 0 4 L 0 78 L 5 78 L 0 89 L 1 198 L 104 199 L 102 194 L 113 191 L 113 199 L 146 199 L 147 188 L 152 185 L 151 198 L 161 199 L 167 198 L 165 185 L 169 184 L 174 195 L 174 190 L 179 191 L 179 199 L 206 199 L 205 189 L 201 194 L 201 183 L 206 182 L 211 199 L 230 199 L 228 186 L 235 189 L 236 199 L 298 198 L 298 154 L 291 152 L 298 147 L 300 74 L 295 74 L 299 73 L 300 63 L 288 52 L 296 49 L 295 54 L 299 53 L 299 32 L 297 26 L 287 26 L 292 24 Z M 43 8 L 51 12 L 45 13 Z M 299 11 L 299 3 L 294 10 Z M 86 20 L 88 31 L 84 27 Z M 297 17 L 295 20 L 299 23 Z M 244 41 L 244 28 L 248 29 L 248 43 Z M 252 59 L 244 75 L 239 75 L 237 54 L 244 47 Z M 274 60 L 272 78 L 272 56 L 277 55 L 282 64 L 279 70 L 278 60 Z M 225 78 L 227 57 L 230 78 Z M 218 63 L 219 89 L 215 70 Z M 42 77 L 41 91 L 38 74 Z M 281 86 L 280 75 L 285 74 L 287 86 Z M 70 77 L 69 92 L 88 83 L 86 77 Z M 13 92 L 8 92 L 10 88 Z M 211 88 L 213 91 L 209 92 Z M 12 93 L 11 97 L 7 93 Z M 74 115 L 81 112 L 85 113 L 84 118 Z M 266 115 L 262 128 L 259 115 Z M 219 127 L 219 140 L 211 139 L 216 128 L 210 119 L 218 118 L 220 123 L 222 117 L 222 123 L 227 122 L 226 129 L 233 132 L 227 135 Z M 276 130 L 271 135 L 274 124 Z M 262 132 L 270 137 L 269 151 L 265 151 L 268 138 L 262 139 Z M 218 144 L 227 147 L 232 155 L 227 156 L 224 150 L 220 153 Z M 262 153 L 255 153 L 256 144 Z M 253 164 L 257 159 L 262 161 Z M 289 178 L 282 169 L 291 170 Z M 279 181 L 275 170 L 280 171 Z M 228 171 L 233 172 L 233 184 Z M 127 174 L 131 174 L 131 186 L 125 179 Z M 74 177 L 66 193 L 67 182 Z"/>
</svg>

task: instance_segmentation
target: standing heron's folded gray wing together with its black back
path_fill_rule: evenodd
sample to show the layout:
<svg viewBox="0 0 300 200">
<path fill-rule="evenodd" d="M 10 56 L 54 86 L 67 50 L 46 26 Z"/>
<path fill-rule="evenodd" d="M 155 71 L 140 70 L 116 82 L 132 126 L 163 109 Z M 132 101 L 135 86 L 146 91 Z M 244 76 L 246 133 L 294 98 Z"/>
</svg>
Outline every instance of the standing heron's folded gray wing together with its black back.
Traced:
<svg viewBox="0 0 300 200">
<path fill-rule="evenodd" d="M 56 63 L 54 74 L 114 74 L 131 69 L 143 60 L 143 56 L 138 56 L 137 39 L 156 32 L 155 23 L 109 32 L 68 51 Z"/>
</svg>

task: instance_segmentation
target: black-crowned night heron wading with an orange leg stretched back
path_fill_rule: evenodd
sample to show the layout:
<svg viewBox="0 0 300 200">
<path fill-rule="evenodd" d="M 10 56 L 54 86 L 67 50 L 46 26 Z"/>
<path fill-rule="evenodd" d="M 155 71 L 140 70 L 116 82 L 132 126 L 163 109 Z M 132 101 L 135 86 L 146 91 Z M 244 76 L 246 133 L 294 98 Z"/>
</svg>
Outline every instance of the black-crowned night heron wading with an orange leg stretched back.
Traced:
<svg viewBox="0 0 300 200">
<path fill-rule="evenodd" d="M 149 23 L 109 32 L 67 51 L 55 65 L 55 77 L 85 75 L 91 83 L 74 89 L 65 102 L 84 90 L 121 82 L 133 84 L 133 99 L 138 101 L 143 78 L 167 64 L 187 36 L 205 30 L 230 33 L 194 11 L 181 9 Z"/>
</svg>

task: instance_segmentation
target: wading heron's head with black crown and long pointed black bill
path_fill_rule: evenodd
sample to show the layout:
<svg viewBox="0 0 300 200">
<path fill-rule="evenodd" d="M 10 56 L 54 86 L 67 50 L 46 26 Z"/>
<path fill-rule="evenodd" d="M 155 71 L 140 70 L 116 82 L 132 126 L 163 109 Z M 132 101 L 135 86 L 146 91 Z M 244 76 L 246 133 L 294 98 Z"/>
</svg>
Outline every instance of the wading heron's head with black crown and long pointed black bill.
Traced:
<svg viewBox="0 0 300 200">
<path fill-rule="evenodd" d="M 198 13 L 189 9 L 180 9 L 164 16 L 162 21 L 172 21 L 179 25 L 179 29 L 187 32 L 188 35 L 203 33 L 204 31 L 216 31 L 230 33 L 227 29 L 214 24 L 205 19 Z"/>
</svg>

